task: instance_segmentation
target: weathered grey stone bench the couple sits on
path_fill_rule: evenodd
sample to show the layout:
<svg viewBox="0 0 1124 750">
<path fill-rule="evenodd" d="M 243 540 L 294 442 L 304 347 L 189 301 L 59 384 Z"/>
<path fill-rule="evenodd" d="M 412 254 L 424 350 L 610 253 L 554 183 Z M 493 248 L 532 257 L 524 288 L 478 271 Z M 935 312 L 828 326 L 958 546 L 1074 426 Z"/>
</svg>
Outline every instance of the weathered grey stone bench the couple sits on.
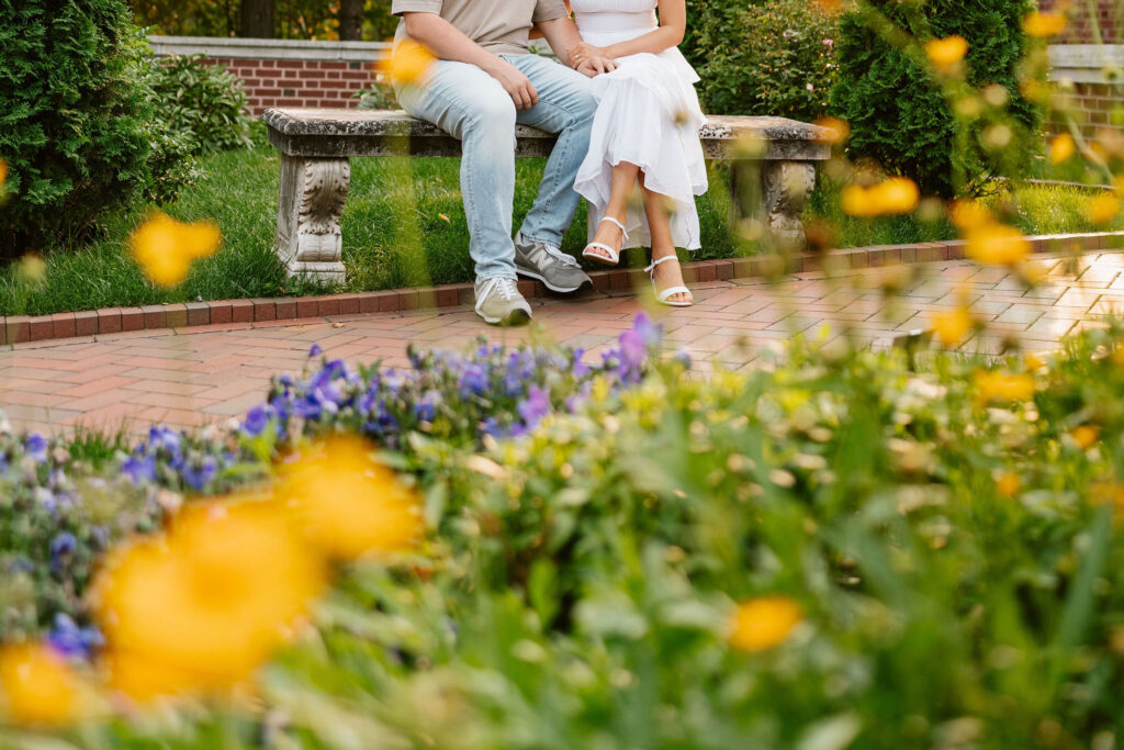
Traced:
<svg viewBox="0 0 1124 750">
<path fill-rule="evenodd" d="M 355 156 L 460 156 L 461 142 L 401 111 L 270 109 L 262 119 L 281 150 L 281 197 L 274 250 L 289 275 L 344 280 L 339 217 Z M 746 159 L 759 147 L 760 218 L 787 242 L 804 244 L 800 214 L 816 181 L 815 163 L 831 156 L 827 132 L 780 117 L 711 117 L 699 133 L 706 157 Z M 518 126 L 516 155 L 545 157 L 555 136 Z M 732 170 L 737 174 L 738 170 Z M 732 190 L 732 195 L 746 191 Z M 740 201 L 732 200 L 732 204 Z"/>
</svg>

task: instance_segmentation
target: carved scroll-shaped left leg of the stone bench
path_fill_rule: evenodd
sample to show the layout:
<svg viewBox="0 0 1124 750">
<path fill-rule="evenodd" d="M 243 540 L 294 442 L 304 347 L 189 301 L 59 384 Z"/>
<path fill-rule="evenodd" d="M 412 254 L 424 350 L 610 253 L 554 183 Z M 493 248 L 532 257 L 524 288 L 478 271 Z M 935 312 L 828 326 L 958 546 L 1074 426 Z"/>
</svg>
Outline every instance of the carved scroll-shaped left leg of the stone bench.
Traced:
<svg viewBox="0 0 1124 750">
<path fill-rule="evenodd" d="M 347 201 L 351 162 L 281 155 L 281 198 L 274 252 L 290 277 L 344 281 L 339 217 Z"/>
</svg>

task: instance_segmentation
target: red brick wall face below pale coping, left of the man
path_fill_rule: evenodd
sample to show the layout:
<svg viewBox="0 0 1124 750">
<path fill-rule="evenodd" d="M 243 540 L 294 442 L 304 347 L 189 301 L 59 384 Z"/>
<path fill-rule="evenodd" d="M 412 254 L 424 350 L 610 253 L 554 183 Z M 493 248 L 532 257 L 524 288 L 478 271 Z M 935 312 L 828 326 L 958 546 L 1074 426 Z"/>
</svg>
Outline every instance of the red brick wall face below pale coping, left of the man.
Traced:
<svg viewBox="0 0 1124 750">
<path fill-rule="evenodd" d="M 223 64 L 242 79 L 254 116 L 271 107 L 354 107 L 352 96 L 374 81 L 374 61 L 210 57 L 207 62 Z"/>
</svg>

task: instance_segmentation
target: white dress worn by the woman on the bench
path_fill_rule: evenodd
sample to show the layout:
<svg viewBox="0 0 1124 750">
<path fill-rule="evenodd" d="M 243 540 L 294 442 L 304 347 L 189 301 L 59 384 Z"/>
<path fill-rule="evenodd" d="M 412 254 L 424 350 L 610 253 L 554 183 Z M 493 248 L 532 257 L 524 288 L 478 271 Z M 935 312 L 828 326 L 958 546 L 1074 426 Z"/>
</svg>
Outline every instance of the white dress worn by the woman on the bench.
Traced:
<svg viewBox="0 0 1124 750">
<path fill-rule="evenodd" d="M 598 47 L 659 28 L 658 0 L 572 0 L 570 4 L 581 38 Z M 597 116 L 589 154 L 574 181 L 574 190 L 589 202 L 589 236 L 605 216 L 613 166 L 631 162 L 643 170 L 645 188 L 671 200 L 676 246 L 698 250 L 695 196 L 707 190 L 706 162 L 698 137 L 705 116 L 695 92 L 700 79 L 676 47 L 658 55 L 619 57 L 617 64 L 616 71 L 592 81 Z M 642 207 L 629 206 L 625 226 L 625 247 L 651 246 Z"/>
</svg>

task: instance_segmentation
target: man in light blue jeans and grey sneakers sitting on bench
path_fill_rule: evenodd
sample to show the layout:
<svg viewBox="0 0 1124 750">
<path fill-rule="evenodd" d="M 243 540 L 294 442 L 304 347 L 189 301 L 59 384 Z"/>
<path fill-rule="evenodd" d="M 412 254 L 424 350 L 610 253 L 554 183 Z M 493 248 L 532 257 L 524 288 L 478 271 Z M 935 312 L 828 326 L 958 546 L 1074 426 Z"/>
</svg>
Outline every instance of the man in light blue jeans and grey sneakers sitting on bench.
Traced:
<svg viewBox="0 0 1124 750">
<path fill-rule="evenodd" d="M 569 64 L 581 44 L 563 0 L 393 0 L 407 36 L 437 56 L 419 85 L 391 81 L 402 108 L 462 142 L 461 196 L 475 263 L 477 315 L 492 325 L 531 319 L 516 274 L 547 289 L 573 292 L 591 281 L 563 253 L 562 235 L 580 200 L 573 190 L 589 148 L 597 102 L 589 78 L 614 69 L 601 57 L 573 71 L 531 54 L 528 34 L 543 31 Z M 531 125 L 559 139 L 546 163 L 535 205 L 511 240 L 515 200 L 515 126 Z"/>
</svg>

